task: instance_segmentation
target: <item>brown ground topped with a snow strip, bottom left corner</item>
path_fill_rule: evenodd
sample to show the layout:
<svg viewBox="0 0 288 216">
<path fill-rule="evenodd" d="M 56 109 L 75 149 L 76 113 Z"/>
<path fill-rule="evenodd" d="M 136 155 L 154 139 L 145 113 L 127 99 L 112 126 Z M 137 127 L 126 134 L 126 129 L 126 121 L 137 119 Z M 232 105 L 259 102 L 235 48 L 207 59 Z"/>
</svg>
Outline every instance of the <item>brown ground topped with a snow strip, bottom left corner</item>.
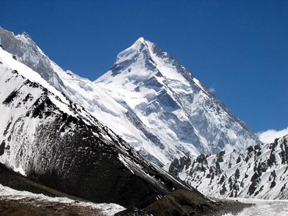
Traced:
<svg viewBox="0 0 288 216">
<path fill-rule="evenodd" d="M 124 210 L 114 203 L 83 202 L 18 191 L 0 184 L 0 215 L 95 215 L 110 216 Z"/>
</svg>

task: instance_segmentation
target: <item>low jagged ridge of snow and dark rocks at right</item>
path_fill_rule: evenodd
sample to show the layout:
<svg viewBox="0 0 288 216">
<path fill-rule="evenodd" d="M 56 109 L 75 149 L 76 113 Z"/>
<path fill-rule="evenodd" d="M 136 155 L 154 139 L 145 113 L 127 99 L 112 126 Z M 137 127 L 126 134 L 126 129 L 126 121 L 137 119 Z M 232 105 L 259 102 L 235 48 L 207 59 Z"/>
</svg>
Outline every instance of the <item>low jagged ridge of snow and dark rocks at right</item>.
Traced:
<svg viewBox="0 0 288 216">
<path fill-rule="evenodd" d="M 244 153 L 221 151 L 175 159 L 169 172 L 213 197 L 288 198 L 288 135 L 250 146 Z"/>
</svg>

